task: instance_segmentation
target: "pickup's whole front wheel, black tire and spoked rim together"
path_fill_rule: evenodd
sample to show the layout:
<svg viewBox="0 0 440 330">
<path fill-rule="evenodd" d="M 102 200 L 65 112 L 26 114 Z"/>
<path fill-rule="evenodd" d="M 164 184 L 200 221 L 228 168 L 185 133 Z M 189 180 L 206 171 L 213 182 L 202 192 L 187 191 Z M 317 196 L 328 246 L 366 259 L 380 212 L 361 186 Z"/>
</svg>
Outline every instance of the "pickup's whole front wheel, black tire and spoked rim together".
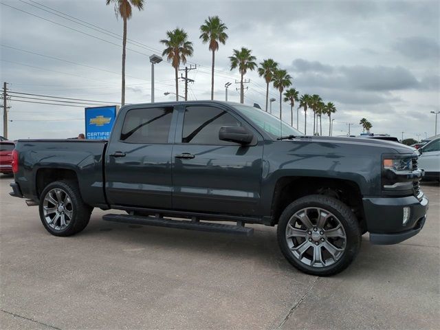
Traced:
<svg viewBox="0 0 440 330">
<path fill-rule="evenodd" d="M 361 243 L 355 214 L 338 199 L 325 195 L 309 195 L 287 206 L 277 236 L 289 263 L 318 276 L 342 272 L 355 259 Z"/>
</svg>

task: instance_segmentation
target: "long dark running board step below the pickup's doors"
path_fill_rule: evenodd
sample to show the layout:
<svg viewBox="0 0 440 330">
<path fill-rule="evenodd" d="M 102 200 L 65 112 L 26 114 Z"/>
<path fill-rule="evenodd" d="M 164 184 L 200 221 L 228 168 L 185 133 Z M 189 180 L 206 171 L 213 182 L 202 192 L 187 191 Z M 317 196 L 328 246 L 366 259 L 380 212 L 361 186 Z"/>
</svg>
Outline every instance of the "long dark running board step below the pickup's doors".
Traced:
<svg viewBox="0 0 440 330">
<path fill-rule="evenodd" d="M 237 225 L 225 225 L 223 223 L 201 222 L 197 218 L 192 218 L 192 221 L 187 221 L 129 214 L 104 214 L 102 219 L 120 223 L 134 223 L 136 225 L 155 225 L 158 227 L 200 230 L 202 232 L 223 232 L 226 234 L 240 234 L 245 236 L 254 234 L 254 228 L 247 228 L 244 226 L 244 223 L 240 221 Z"/>
</svg>

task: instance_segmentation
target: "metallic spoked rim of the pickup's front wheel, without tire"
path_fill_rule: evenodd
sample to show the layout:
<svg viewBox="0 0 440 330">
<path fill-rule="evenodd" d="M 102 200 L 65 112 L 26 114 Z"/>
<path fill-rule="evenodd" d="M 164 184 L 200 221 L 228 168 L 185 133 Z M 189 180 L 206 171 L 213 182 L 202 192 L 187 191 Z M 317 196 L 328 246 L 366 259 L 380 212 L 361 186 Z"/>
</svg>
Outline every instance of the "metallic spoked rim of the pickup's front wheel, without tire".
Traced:
<svg viewBox="0 0 440 330">
<path fill-rule="evenodd" d="M 347 246 L 344 227 L 333 213 L 322 208 L 303 208 L 287 223 L 290 253 L 311 267 L 328 267 L 341 259 Z"/>
</svg>

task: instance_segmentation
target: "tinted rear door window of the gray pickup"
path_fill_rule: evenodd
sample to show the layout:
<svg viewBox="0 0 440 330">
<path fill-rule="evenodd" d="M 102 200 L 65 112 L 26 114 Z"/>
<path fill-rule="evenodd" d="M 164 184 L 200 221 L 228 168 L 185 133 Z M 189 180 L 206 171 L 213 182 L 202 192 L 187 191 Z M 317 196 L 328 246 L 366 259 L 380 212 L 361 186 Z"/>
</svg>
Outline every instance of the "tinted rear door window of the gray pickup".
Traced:
<svg viewBox="0 0 440 330">
<path fill-rule="evenodd" d="M 121 140 L 132 143 L 166 143 L 173 108 L 133 109 L 126 113 Z"/>
</svg>

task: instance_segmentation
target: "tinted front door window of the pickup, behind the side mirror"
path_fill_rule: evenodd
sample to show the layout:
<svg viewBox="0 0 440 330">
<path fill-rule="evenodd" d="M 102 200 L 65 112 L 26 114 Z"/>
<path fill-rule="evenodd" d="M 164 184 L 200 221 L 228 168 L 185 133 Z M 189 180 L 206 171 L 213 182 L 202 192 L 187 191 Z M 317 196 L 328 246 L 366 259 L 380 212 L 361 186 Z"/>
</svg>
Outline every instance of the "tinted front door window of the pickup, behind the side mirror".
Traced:
<svg viewBox="0 0 440 330">
<path fill-rule="evenodd" d="M 195 144 L 234 144 L 219 140 L 222 126 L 241 126 L 228 112 L 214 107 L 187 107 L 182 141 Z"/>
</svg>

